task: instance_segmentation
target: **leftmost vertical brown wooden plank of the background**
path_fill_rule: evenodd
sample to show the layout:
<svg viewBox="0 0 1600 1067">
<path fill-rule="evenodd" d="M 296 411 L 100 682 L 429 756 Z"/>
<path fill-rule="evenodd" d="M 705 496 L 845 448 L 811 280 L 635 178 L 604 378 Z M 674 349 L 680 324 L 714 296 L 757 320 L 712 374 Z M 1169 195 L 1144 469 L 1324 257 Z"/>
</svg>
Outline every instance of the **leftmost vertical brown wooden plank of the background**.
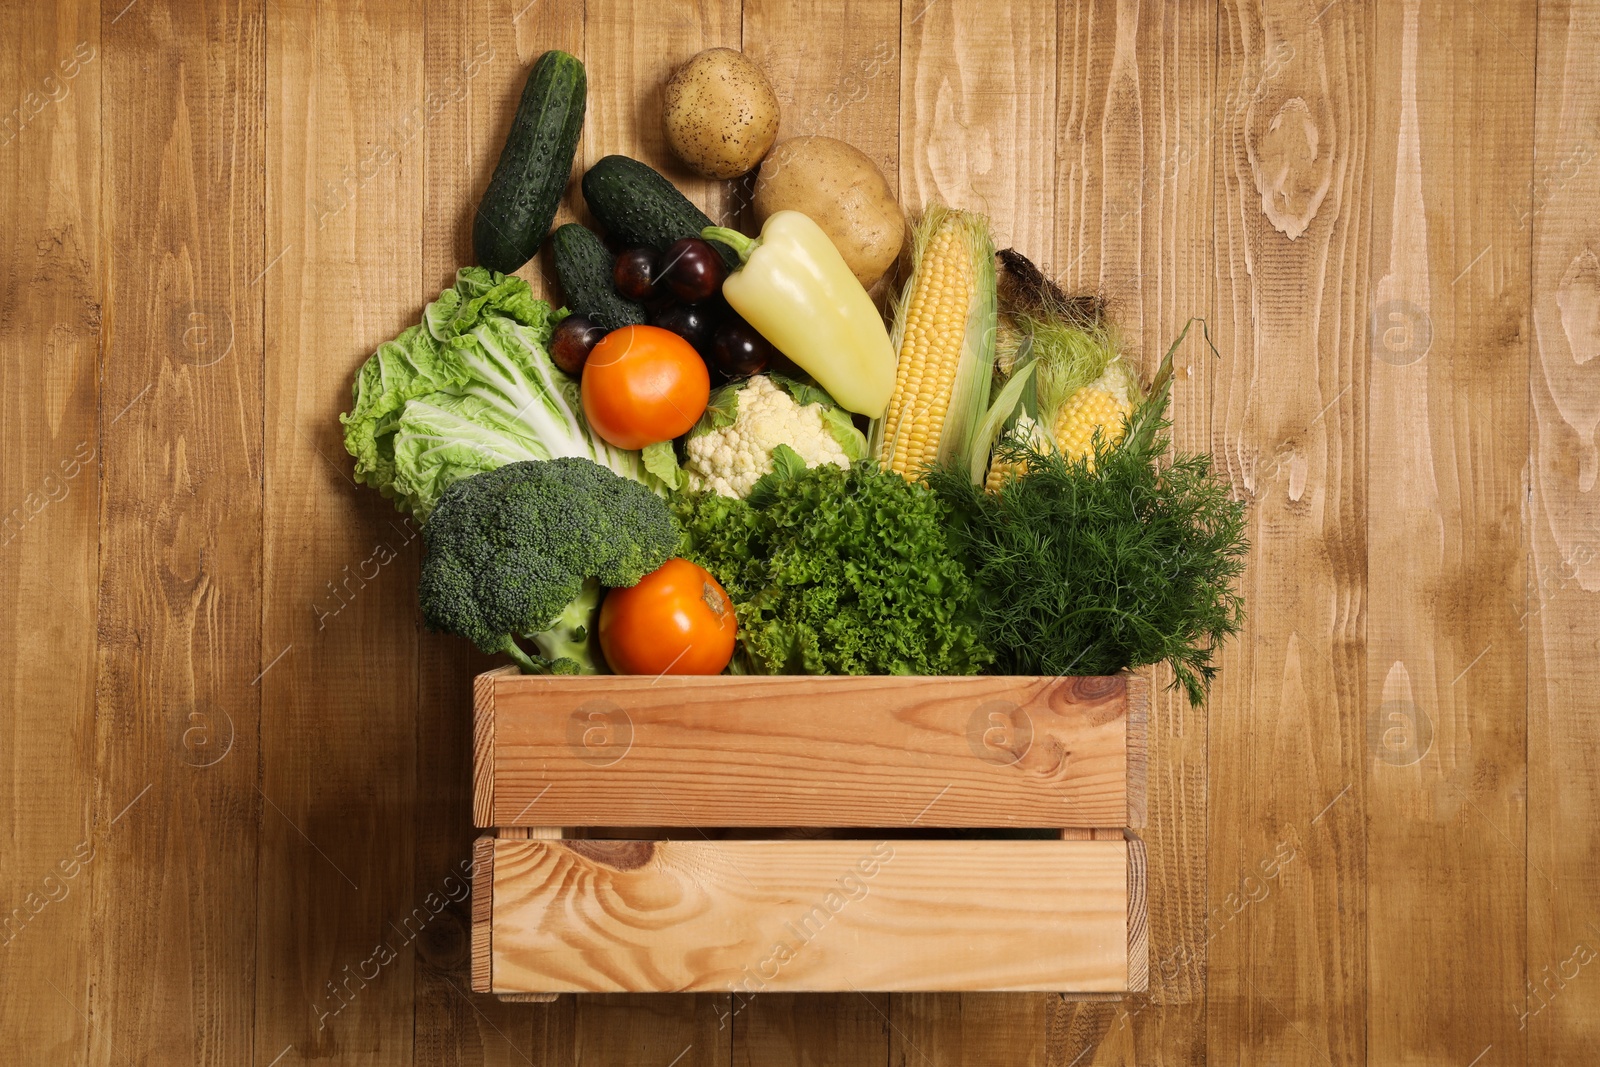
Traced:
<svg viewBox="0 0 1600 1067">
<path fill-rule="evenodd" d="M 0 26 L 0 1046 L 82 1062 L 94 864 L 120 845 L 94 811 L 106 62 L 93 5 Z"/>
</svg>

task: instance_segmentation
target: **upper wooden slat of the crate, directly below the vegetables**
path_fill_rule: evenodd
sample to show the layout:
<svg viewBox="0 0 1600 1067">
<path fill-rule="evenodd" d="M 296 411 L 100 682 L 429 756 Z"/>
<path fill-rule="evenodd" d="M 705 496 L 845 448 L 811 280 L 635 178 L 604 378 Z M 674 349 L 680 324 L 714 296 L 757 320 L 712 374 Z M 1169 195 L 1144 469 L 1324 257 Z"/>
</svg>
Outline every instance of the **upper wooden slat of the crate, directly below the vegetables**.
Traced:
<svg viewBox="0 0 1600 1067">
<path fill-rule="evenodd" d="M 480 825 L 1126 821 L 1122 678 L 488 681 Z"/>
</svg>

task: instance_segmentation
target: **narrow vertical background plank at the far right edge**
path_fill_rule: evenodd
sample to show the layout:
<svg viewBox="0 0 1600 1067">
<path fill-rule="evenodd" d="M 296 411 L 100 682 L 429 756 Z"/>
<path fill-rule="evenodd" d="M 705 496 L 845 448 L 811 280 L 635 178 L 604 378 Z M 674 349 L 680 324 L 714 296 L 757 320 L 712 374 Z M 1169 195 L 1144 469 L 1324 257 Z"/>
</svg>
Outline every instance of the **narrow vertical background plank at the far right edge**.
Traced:
<svg viewBox="0 0 1600 1067">
<path fill-rule="evenodd" d="M 1528 1062 L 1600 1048 L 1600 11 L 1539 6 L 1528 501 Z M 1507 605 L 1509 608 L 1510 605 Z M 1482 664 L 1480 664 L 1482 665 Z"/>
</svg>

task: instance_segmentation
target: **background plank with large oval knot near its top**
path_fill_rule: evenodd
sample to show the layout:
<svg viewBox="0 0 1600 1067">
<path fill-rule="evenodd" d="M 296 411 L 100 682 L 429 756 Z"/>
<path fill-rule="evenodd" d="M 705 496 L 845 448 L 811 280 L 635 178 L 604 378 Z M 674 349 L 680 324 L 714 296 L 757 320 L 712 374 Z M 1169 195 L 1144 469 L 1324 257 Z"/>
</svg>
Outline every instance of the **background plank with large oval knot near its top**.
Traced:
<svg viewBox="0 0 1600 1067">
<path fill-rule="evenodd" d="M 1211 442 L 1251 553 L 1208 723 L 1206 1059 L 1362 1062 L 1392 1003 L 1366 992 L 1362 849 L 1381 64 L 1357 5 L 1224 3 L 1219 34 Z"/>
</svg>

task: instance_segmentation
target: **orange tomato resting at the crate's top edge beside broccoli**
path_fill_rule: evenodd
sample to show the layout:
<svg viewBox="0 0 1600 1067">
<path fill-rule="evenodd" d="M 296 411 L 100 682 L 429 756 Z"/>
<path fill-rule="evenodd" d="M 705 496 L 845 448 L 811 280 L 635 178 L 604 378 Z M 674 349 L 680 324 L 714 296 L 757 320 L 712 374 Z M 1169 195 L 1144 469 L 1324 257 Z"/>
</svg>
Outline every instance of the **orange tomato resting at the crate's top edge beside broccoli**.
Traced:
<svg viewBox="0 0 1600 1067">
<path fill-rule="evenodd" d="M 619 675 L 722 673 L 736 630 L 726 590 L 688 560 L 667 560 L 600 605 L 600 651 Z"/>
</svg>

